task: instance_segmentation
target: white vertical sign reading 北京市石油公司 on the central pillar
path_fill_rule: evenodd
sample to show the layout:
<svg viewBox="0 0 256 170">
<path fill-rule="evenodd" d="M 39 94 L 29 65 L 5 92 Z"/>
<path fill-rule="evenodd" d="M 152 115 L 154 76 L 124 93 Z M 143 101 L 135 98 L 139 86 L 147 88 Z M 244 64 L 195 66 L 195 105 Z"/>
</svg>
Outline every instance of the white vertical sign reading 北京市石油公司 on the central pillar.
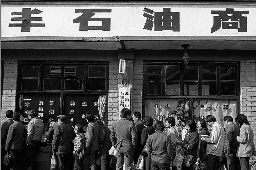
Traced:
<svg viewBox="0 0 256 170">
<path fill-rule="evenodd" d="M 119 102 L 119 120 L 121 119 L 120 117 L 120 111 L 126 107 L 128 109 L 131 108 L 131 88 L 130 87 L 120 87 L 119 88 L 119 94 L 118 94 Z"/>
</svg>

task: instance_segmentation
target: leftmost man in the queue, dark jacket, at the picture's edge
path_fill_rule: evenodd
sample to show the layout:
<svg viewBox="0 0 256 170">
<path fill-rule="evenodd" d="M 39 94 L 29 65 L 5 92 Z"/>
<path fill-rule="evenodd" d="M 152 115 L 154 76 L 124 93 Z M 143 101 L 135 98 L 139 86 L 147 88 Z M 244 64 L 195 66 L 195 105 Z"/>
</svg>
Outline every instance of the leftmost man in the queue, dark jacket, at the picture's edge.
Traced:
<svg viewBox="0 0 256 170">
<path fill-rule="evenodd" d="M 12 119 L 13 111 L 7 110 L 5 113 L 5 116 L 7 117 L 7 120 L 3 123 L 1 127 L 1 170 L 10 169 L 9 167 L 3 164 L 3 159 L 4 159 L 4 156 L 7 154 L 7 152 L 5 151 L 5 143 L 6 143 L 9 127 L 11 124 L 13 124 L 13 119 Z"/>
</svg>

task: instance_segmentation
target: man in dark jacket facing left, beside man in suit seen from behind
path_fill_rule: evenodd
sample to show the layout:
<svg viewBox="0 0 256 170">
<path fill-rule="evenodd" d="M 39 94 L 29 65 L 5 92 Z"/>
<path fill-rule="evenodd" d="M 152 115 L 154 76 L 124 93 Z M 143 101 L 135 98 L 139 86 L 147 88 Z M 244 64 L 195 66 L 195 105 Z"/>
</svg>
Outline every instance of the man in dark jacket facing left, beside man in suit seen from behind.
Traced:
<svg viewBox="0 0 256 170">
<path fill-rule="evenodd" d="M 141 133 L 142 133 L 142 130 L 145 128 L 145 126 L 143 125 L 142 123 L 142 120 L 141 120 L 141 113 L 139 111 L 135 111 L 133 112 L 133 122 L 135 123 L 135 129 L 136 129 L 136 134 L 137 134 L 137 149 L 134 151 L 134 154 L 133 154 L 133 161 L 135 164 L 137 164 L 137 161 L 139 159 L 139 156 L 141 155 L 142 153 L 142 146 L 141 146 Z"/>
</svg>

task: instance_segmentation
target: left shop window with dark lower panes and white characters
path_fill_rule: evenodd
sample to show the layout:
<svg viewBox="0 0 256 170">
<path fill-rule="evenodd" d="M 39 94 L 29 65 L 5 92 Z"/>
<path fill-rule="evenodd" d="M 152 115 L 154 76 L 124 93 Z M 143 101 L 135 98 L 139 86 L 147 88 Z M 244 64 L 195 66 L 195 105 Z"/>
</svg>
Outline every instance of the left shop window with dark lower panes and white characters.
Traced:
<svg viewBox="0 0 256 170">
<path fill-rule="evenodd" d="M 64 114 L 73 127 L 87 127 L 86 112 L 105 121 L 107 70 L 107 63 L 20 62 L 18 110 L 22 121 L 28 124 L 30 110 L 37 111 L 45 125 L 49 119 Z"/>
</svg>

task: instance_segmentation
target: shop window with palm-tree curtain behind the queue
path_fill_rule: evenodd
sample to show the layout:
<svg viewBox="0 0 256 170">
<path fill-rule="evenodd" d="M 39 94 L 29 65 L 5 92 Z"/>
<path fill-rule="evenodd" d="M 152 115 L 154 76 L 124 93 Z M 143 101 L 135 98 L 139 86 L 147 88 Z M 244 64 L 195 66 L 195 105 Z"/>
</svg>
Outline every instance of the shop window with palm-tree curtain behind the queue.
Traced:
<svg viewBox="0 0 256 170">
<path fill-rule="evenodd" d="M 164 123 L 172 116 L 178 132 L 183 116 L 213 115 L 224 126 L 224 116 L 238 114 L 238 63 L 145 62 L 144 70 L 144 115 Z"/>
</svg>

